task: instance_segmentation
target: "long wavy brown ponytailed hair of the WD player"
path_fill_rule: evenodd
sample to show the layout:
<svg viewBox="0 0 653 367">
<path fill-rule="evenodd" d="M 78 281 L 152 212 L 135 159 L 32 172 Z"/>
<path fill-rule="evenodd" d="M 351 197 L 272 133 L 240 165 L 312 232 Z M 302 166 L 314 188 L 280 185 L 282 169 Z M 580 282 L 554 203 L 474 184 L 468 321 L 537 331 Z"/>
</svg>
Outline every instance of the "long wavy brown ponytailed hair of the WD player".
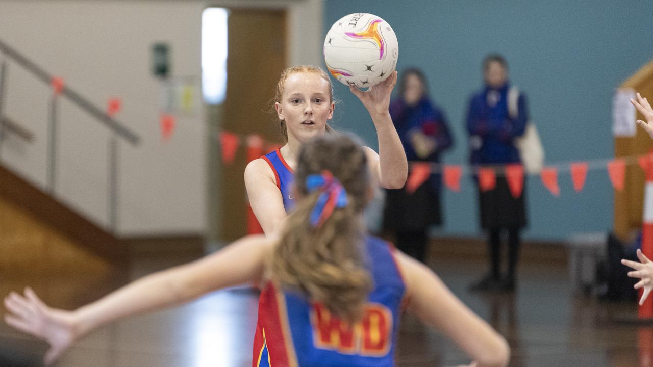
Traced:
<svg viewBox="0 0 653 367">
<path fill-rule="evenodd" d="M 311 223 L 321 190 L 310 192 L 306 178 L 332 173 L 344 188 L 347 204 L 334 208 L 319 225 Z M 349 322 L 362 315 L 372 290 L 364 249 L 362 210 L 370 185 L 362 148 L 346 136 L 323 137 L 305 144 L 298 159 L 295 185 L 303 197 L 289 215 L 272 272 L 285 287 L 308 295 Z"/>
</svg>

